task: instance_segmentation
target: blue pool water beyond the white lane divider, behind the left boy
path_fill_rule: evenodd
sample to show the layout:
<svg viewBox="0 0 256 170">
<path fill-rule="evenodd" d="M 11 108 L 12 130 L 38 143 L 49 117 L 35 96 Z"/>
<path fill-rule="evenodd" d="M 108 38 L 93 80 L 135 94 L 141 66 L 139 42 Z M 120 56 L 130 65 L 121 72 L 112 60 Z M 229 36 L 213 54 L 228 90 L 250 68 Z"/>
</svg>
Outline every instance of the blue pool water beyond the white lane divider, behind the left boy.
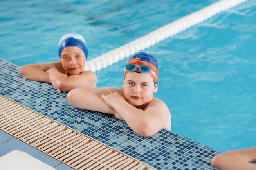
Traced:
<svg viewBox="0 0 256 170">
<path fill-rule="evenodd" d="M 216 1 L 4 0 L 1 55 L 18 65 L 56 61 L 59 39 L 76 31 L 85 37 L 89 60 Z"/>
</svg>

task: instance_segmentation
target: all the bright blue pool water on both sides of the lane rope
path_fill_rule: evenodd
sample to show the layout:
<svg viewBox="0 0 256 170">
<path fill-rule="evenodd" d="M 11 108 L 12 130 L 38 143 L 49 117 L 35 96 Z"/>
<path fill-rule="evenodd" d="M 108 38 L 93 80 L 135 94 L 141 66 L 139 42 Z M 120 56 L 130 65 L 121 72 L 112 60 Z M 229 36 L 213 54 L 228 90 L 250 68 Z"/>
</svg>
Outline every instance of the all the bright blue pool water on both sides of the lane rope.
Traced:
<svg viewBox="0 0 256 170">
<path fill-rule="evenodd" d="M 56 61 L 59 39 L 75 31 L 90 60 L 214 2 L 4 0 L 0 57 Z M 255 18 L 249 0 L 144 50 L 159 61 L 155 97 L 168 105 L 172 131 L 220 152 L 255 146 Z M 121 87 L 127 61 L 96 71 L 97 87 Z"/>
</svg>

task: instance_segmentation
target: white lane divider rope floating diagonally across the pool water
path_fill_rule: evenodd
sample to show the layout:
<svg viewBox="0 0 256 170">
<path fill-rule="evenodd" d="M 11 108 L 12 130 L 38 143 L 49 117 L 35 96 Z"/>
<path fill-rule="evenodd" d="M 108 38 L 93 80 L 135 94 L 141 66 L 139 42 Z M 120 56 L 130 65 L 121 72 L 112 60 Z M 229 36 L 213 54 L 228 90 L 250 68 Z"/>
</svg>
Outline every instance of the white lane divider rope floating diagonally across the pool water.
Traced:
<svg viewBox="0 0 256 170">
<path fill-rule="evenodd" d="M 117 63 L 119 60 L 123 60 L 125 57 L 129 57 L 145 48 L 155 45 L 164 39 L 171 37 L 177 33 L 180 33 L 195 24 L 199 24 L 212 16 L 235 7 L 247 0 L 220 0 L 216 3 L 209 5 L 199 11 L 186 15 L 170 24 L 158 28 L 152 31 L 148 35 L 135 39 L 128 44 L 110 50 L 109 52 L 102 54 L 90 61 L 86 61 L 85 70 L 91 70 L 93 72 L 99 71 L 102 68 L 106 68 L 108 65 Z"/>
</svg>

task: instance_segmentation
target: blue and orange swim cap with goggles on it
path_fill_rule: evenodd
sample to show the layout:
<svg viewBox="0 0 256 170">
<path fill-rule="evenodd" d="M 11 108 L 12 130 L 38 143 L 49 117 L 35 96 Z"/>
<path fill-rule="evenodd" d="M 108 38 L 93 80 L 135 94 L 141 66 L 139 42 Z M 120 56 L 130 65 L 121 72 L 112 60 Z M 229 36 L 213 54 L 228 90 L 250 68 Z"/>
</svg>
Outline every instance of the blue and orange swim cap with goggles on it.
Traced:
<svg viewBox="0 0 256 170">
<path fill-rule="evenodd" d="M 140 52 L 135 54 L 128 61 L 124 77 L 128 72 L 141 72 L 143 74 L 149 74 L 157 83 L 158 81 L 158 66 L 157 59 L 150 54 L 146 54 L 145 52 Z"/>
</svg>

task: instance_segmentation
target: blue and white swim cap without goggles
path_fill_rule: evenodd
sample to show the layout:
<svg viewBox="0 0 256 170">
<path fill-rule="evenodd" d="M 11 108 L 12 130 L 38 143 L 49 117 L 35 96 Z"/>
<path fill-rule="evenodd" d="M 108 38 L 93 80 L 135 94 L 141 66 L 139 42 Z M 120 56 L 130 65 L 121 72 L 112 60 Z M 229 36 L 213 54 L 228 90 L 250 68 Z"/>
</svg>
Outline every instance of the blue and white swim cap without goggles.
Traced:
<svg viewBox="0 0 256 170">
<path fill-rule="evenodd" d="M 88 50 L 86 47 L 85 39 L 81 35 L 74 32 L 63 35 L 58 43 L 58 55 L 61 57 L 61 52 L 63 49 L 70 46 L 76 46 L 83 50 L 87 59 Z"/>
</svg>

